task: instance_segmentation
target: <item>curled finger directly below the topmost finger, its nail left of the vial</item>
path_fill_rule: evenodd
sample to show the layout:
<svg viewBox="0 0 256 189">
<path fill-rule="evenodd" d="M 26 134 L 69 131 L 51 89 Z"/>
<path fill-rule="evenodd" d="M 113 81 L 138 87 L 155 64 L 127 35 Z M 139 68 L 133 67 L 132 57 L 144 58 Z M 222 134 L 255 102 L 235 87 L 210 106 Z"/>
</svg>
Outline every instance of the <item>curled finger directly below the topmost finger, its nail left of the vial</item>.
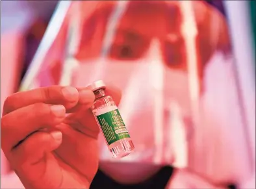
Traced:
<svg viewBox="0 0 256 189">
<path fill-rule="evenodd" d="M 61 123 L 65 113 L 63 105 L 36 103 L 6 114 L 1 118 L 3 151 L 8 153 L 32 132 Z"/>
</svg>

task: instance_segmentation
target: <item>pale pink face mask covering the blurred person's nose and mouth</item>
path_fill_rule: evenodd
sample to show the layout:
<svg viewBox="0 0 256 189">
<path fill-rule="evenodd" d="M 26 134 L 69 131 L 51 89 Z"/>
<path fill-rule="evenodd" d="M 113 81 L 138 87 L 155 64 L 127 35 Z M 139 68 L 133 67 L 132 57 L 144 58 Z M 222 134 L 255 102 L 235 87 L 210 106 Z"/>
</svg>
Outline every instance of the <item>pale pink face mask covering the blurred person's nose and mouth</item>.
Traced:
<svg viewBox="0 0 256 189">
<path fill-rule="evenodd" d="M 103 79 L 122 89 L 119 108 L 137 149 L 133 155 L 123 159 L 161 163 L 163 150 L 170 143 L 165 133 L 169 121 L 164 112 L 170 111 L 173 101 L 185 112 L 189 109 L 186 73 L 164 66 L 159 46 L 154 42 L 140 60 L 86 60 L 79 65 L 77 76 L 76 86 L 86 86 L 89 82 Z M 109 160 L 107 148 L 103 149 L 101 157 Z"/>
</svg>

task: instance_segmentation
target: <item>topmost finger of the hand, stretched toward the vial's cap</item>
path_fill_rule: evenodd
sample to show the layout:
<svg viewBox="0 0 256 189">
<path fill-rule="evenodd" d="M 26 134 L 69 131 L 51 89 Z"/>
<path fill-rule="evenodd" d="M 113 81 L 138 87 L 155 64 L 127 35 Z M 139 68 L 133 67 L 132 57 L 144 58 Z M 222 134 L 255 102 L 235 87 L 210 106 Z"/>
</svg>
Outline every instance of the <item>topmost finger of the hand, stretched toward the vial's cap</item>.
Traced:
<svg viewBox="0 0 256 189">
<path fill-rule="evenodd" d="M 79 100 L 79 93 L 71 86 L 49 86 L 18 92 L 7 97 L 4 103 L 3 116 L 34 103 L 64 105 L 67 109 L 74 107 Z"/>
</svg>

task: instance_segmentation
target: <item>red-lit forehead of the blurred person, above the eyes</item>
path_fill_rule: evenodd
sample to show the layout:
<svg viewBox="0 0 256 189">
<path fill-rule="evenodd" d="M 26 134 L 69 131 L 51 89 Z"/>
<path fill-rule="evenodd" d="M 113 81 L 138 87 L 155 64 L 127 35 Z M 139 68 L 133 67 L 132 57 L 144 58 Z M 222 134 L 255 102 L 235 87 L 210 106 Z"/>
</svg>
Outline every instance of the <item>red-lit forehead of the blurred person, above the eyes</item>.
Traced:
<svg viewBox="0 0 256 189">
<path fill-rule="evenodd" d="M 120 29 L 132 29 L 146 36 L 165 36 L 180 29 L 179 6 L 148 1 L 132 2 L 120 21 Z"/>
</svg>

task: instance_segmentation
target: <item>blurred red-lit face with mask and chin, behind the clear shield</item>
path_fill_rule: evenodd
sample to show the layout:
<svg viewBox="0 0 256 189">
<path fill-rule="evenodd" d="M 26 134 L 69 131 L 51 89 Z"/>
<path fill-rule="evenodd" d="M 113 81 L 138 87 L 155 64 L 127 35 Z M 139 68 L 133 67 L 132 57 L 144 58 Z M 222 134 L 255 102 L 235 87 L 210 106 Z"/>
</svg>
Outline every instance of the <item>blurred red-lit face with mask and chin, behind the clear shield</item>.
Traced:
<svg viewBox="0 0 256 189">
<path fill-rule="evenodd" d="M 159 152 L 160 145 L 168 143 L 168 138 L 164 136 L 168 126 L 164 125 L 168 125 L 170 98 L 182 103 L 188 111 L 185 40 L 181 36 L 179 6 L 131 1 L 112 29 L 114 38 L 108 44 L 107 57 L 103 57 L 101 52 L 110 32 L 111 18 L 113 12 L 117 11 L 114 5 L 99 5 L 82 22 L 81 42 L 76 55 L 81 64 L 76 72 L 75 84 L 84 86 L 84 82 L 103 79 L 122 88 L 120 111 L 136 145 L 136 152 L 128 161 L 147 164 L 131 166 L 101 162 L 100 167 L 120 182 L 136 183 L 159 170 L 159 166 L 152 163 L 172 162 L 172 155 L 168 160 L 164 160 L 164 157 L 156 160 L 159 157 L 155 154 L 163 153 Z M 160 93 L 156 94 L 158 88 Z M 162 103 L 157 99 L 163 99 Z M 165 114 L 162 123 L 157 123 L 155 110 Z M 162 144 L 157 144 L 156 135 L 163 138 Z M 101 135 L 99 140 L 100 144 L 104 144 Z M 110 160 L 109 152 L 103 145 L 101 160 Z"/>
</svg>

